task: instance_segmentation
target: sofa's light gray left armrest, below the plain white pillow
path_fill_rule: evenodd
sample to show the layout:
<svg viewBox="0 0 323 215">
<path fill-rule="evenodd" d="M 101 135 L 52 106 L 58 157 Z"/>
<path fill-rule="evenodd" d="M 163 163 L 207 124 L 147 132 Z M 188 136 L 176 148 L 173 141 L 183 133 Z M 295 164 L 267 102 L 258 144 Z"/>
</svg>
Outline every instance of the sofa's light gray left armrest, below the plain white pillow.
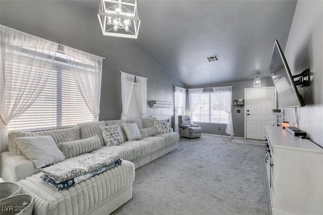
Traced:
<svg viewBox="0 0 323 215">
<path fill-rule="evenodd" d="M 14 155 L 9 151 L 2 152 L 1 178 L 9 182 L 17 182 L 40 172 L 27 157 Z"/>
</svg>

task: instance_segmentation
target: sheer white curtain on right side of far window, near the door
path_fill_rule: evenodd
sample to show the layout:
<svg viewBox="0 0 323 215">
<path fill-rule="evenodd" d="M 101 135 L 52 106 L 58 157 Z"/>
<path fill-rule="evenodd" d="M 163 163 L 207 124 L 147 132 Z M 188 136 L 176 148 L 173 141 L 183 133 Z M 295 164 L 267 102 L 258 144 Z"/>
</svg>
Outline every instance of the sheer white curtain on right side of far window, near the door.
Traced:
<svg viewBox="0 0 323 215">
<path fill-rule="evenodd" d="M 234 131 L 233 131 L 232 112 L 231 112 L 232 86 L 213 87 L 213 91 L 214 93 L 216 93 L 216 98 L 218 99 L 222 109 L 229 114 L 226 133 L 233 136 Z M 227 92 L 230 92 L 229 96 Z"/>
</svg>

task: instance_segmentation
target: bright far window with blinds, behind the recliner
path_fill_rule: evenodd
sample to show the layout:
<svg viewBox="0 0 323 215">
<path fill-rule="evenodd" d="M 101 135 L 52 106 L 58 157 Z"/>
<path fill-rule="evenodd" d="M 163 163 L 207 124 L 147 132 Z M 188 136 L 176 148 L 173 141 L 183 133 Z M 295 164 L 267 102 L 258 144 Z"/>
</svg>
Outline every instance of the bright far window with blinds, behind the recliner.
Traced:
<svg viewBox="0 0 323 215">
<path fill-rule="evenodd" d="M 222 93 L 230 96 L 230 91 Z M 219 93 L 214 92 L 204 92 L 201 95 L 197 108 L 193 112 L 194 122 L 228 123 L 229 114 L 222 109 L 217 97 L 220 98 Z"/>
</svg>

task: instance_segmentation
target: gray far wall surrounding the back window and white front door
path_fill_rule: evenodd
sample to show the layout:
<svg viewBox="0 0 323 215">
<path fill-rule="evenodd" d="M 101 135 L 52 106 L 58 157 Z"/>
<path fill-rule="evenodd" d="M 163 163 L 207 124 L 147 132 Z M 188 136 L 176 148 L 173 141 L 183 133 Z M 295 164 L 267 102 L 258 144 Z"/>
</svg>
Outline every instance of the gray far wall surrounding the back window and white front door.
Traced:
<svg viewBox="0 0 323 215">
<path fill-rule="evenodd" d="M 188 88 L 220 87 L 220 86 L 232 86 L 232 85 L 234 86 L 232 88 L 232 100 L 237 100 L 239 98 L 244 99 L 244 88 L 253 87 L 253 80 L 217 83 L 217 84 L 210 84 L 206 86 L 194 86 L 194 87 L 188 87 Z M 274 83 L 272 79 L 261 79 L 261 86 L 263 87 L 274 86 Z M 186 109 L 186 113 L 189 113 L 188 99 L 187 99 L 186 106 L 188 107 Z M 240 110 L 240 113 L 237 113 L 237 110 Z M 244 107 L 239 107 L 239 108 L 235 107 L 233 106 L 233 102 L 232 102 L 232 121 L 233 121 L 233 129 L 235 134 L 234 136 L 244 137 Z M 226 133 L 227 124 L 217 124 L 217 123 L 196 123 L 196 124 L 199 124 L 202 127 L 203 133 L 230 136 L 229 134 Z M 220 131 L 218 130 L 219 127 L 221 128 Z"/>
</svg>

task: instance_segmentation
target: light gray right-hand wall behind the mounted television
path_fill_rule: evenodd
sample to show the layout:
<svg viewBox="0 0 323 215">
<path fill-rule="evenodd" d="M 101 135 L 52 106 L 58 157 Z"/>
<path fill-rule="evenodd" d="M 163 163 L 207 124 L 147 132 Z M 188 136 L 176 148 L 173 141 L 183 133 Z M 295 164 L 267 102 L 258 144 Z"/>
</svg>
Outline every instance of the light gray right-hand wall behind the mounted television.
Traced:
<svg viewBox="0 0 323 215">
<path fill-rule="evenodd" d="M 285 48 L 293 75 L 311 68 L 310 86 L 299 89 L 306 106 L 298 108 L 299 128 L 323 146 L 323 2 L 298 1 Z M 294 108 L 284 109 L 285 120 L 296 125 Z"/>
</svg>

